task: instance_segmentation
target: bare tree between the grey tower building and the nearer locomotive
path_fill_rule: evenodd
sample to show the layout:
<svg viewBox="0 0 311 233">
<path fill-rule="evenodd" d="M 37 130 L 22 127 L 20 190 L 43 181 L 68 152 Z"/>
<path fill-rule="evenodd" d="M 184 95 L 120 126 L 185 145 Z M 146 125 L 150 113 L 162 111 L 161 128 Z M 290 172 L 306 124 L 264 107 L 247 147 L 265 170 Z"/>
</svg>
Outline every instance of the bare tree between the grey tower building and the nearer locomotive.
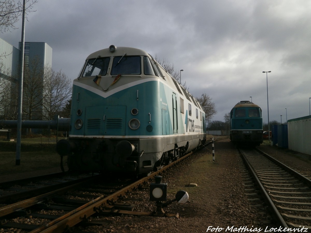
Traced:
<svg viewBox="0 0 311 233">
<path fill-rule="evenodd" d="M 67 76 L 62 71 L 55 72 L 52 68 L 46 68 L 43 99 L 44 119 L 52 120 L 54 115 L 66 110 L 71 93 L 72 85 Z"/>
</svg>

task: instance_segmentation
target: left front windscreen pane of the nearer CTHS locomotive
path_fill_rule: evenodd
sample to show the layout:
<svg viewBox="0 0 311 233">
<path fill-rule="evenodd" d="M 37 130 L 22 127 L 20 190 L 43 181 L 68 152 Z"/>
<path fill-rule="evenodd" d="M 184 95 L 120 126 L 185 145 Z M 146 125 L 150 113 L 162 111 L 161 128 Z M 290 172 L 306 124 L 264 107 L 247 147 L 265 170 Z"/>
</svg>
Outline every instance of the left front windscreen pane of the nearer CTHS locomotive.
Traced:
<svg viewBox="0 0 311 233">
<path fill-rule="evenodd" d="M 85 70 L 82 77 L 106 75 L 110 57 L 93 58 L 86 62 Z"/>
</svg>

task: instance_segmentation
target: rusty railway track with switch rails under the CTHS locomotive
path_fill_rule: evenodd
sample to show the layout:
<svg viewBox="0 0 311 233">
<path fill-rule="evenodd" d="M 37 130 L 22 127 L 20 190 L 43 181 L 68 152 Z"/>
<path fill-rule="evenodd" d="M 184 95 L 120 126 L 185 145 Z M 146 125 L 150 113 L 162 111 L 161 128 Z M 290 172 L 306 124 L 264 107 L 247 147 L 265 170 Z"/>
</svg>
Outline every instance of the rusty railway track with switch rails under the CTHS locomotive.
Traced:
<svg viewBox="0 0 311 233">
<path fill-rule="evenodd" d="M 214 141 L 223 138 L 226 137 L 215 137 Z M 211 139 L 207 139 L 206 144 L 209 143 L 211 143 Z M 131 184 L 128 184 L 126 182 L 114 183 L 112 181 L 112 178 L 103 177 L 102 175 L 87 175 L 87 177 L 83 177 L 80 182 L 76 181 L 74 184 L 67 183 L 66 185 L 64 185 L 64 183 L 66 182 L 61 182 L 63 185 L 58 188 L 56 188 L 55 185 L 47 186 L 45 187 L 45 189 L 48 190 L 48 192 L 45 193 L 43 193 L 44 187 L 35 189 L 33 187 L 30 187 L 30 191 L 15 190 L 15 194 L 3 195 L 2 199 L 0 199 L 0 228 L 17 228 L 23 229 L 23 231 L 25 232 L 33 233 L 64 232 L 70 227 L 75 226 L 77 223 L 88 222 L 90 216 L 95 213 L 118 212 L 134 215 L 151 215 L 151 213 L 134 212 L 133 207 L 131 206 L 125 207 L 124 209 L 122 206 L 120 207 L 118 199 L 122 199 L 133 190 L 137 190 L 141 187 L 147 187 L 148 183 L 153 179 L 154 176 L 160 175 L 163 171 L 171 166 L 174 166 L 174 164 L 180 162 L 184 158 L 187 158 L 191 154 L 192 153 L 189 153 L 179 158 L 168 166 L 165 166 L 159 171 L 152 173 L 148 177 L 136 180 L 133 183 L 132 181 L 128 180 L 128 182 L 131 182 Z M 56 178 L 56 180 L 57 179 L 59 178 Z M 35 180 L 38 180 L 38 178 L 36 178 Z M 103 180 L 110 181 L 103 182 Z M 27 184 L 29 184 L 29 182 L 31 184 L 34 183 L 34 181 L 31 180 L 26 180 L 26 182 L 24 180 L 24 182 L 22 183 L 25 184 L 25 186 L 27 187 Z M 107 184 L 107 182 L 110 182 L 110 185 Z M 42 182 L 40 181 L 39 183 Z M 16 181 L 13 188 L 16 188 L 16 186 L 22 185 L 20 185 L 20 183 Z M 51 187 L 53 191 L 51 191 Z M 2 191 L 4 192 L 5 189 L 12 189 L 12 186 L 7 186 L 6 183 L 3 183 L 2 188 Z M 31 192 L 39 193 L 38 189 L 40 189 L 40 195 L 31 196 L 31 198 L 29 198 Z M 25 194 L 24 198 L 27 197 L 28 199 L 22 199 L 18 202 L 12 202 L 14 200 L 20 199 L 23 196 L 23 193 Z M 26 195 L 26 193 L 28 194 Z M 77 197 L 79 199 L 77 199 Z M 63 213 L 60 214 L 60 212 L 58 211 L 55 215 L 55 210 L 63 210 Z M 17 218 L 22 221 L 16 221 Z M 44 220 L 36 222 L 34 219 Z M 94 220 L 92 221 L 93 224 L 95 222 L 96 221 Z"/>
</svg>

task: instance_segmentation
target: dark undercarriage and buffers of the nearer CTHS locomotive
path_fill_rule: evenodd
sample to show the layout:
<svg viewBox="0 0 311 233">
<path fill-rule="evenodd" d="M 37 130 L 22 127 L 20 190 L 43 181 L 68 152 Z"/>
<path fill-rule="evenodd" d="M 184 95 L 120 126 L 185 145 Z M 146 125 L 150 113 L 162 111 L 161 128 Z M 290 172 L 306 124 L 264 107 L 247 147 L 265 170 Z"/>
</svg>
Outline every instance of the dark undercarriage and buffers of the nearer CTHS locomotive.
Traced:
<svg viewBox="0 0 311 233">
<path fill-rule="evenodd" d="M 177 137 L 172 137 L 176 139 Z M 187 138 L 185 138 L 187 139 Z M 69 170 L 118 171 L 148 174 L 197 148 L 200 139 L 166 144 L 166 139 L 70 139 L 60 140 L 57 151 L 67 155 Z"/>
</svg>

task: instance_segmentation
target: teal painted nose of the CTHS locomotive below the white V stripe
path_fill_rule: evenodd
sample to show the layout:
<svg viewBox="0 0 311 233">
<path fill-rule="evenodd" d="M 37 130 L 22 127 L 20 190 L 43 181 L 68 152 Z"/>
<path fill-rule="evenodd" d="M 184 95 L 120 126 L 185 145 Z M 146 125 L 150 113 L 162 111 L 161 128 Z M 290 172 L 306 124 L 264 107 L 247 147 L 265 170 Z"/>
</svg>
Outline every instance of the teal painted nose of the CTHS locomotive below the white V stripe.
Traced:
<svg viewBox="0 0 311 233">
<path fill-rule="evenodd" d="M 139 93 L 138 100 L 137 90 Z M 169 118 L 165 124 L 165 133 L 163 133 L 162 128 L 157 127 L 162 125 L 162 112 L 165 111 L 166 114 L 169 114 L 170 107 L 170 103 L 166 99 L 164 85 L 157 81 L 149 81 L 124 89 L 107 98 L 74 85 L 73 96 L 76 93 L 80 94 L 79 101 L 72 100 L 70 135 L 150 136 L 173 134 Z M 138 110 L 137 115 L 131 114 L 133 108 Z M 82 112 L 80 116 L 77 115 L 79 109 Z M 162 112 L 159 109 L 162 109 Z M 128 126 L 128 121 L 132 118 L 137 118 L 140 121 L 137 130 L 132 130 Z M 74 126 L 77 119 L 83 121 L 81 129 L 76 129 Z M 146 130 L 148 125 L 155 126 L 151 132 Z"/>
</svg>

